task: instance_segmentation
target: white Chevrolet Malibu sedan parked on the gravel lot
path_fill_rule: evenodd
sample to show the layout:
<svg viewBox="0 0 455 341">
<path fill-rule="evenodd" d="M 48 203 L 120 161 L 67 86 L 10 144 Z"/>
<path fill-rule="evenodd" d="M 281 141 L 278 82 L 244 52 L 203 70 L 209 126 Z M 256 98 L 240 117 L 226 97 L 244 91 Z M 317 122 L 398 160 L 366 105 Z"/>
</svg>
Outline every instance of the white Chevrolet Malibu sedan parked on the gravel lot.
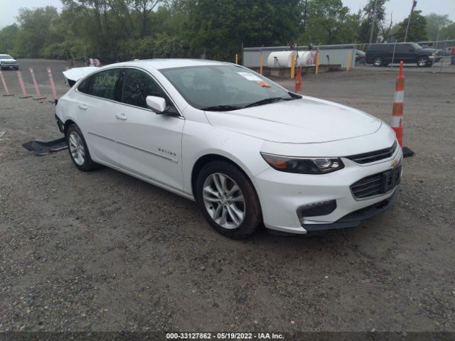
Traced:
<svg viewBox="0 0 455 341">
<path fill-rule="evenodd" d="M 56 118 L 80 171 L 105 165 L 195 200 L 232 238 L 354 227 L 398 194 L 387 124 L 240 65 L 108 65 L 75 82 Z"/>
</svg>

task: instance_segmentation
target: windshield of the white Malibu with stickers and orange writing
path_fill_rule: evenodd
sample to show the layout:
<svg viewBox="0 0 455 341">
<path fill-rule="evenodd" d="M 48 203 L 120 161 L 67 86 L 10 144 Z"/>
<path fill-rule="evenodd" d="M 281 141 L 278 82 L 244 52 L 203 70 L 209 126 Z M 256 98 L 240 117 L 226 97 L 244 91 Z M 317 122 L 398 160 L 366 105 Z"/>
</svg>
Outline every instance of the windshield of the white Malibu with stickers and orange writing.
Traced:
<svg viewBox="0 0 455 341">
<path fill-rule="evenodd" d="M 236 65 L 173 67 L 160 72 L 198 109 L 229 111 L 299 98 Z"/>
</svg>

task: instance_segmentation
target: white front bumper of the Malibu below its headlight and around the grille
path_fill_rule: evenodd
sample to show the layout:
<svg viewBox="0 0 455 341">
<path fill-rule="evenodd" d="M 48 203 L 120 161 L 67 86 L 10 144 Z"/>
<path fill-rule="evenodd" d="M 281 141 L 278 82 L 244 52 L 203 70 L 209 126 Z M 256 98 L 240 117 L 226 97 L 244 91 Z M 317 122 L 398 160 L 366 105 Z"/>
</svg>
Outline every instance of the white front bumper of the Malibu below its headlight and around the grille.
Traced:
<svg viewBox="0 0 455 341">
<path fill-rule="evenodd" d="M 402 161 L 401 148 L 378 163 L 360 166 L 342 158 L 340 171 L 324 175 L 283 173 L 269 168 L 253 178 L 262 207 L 265 227 L 282 232 L 305 234 L 309 231 L 355 227 L 364 219 L 390 208 L 397 197 L 397 187 L 387 193 L 356 199 L 350 190 L 358 180 L 389 171 Z M 324 215 L 299 217 L 299 209 L 321 202 L 336 202 Z"/>
</svg>

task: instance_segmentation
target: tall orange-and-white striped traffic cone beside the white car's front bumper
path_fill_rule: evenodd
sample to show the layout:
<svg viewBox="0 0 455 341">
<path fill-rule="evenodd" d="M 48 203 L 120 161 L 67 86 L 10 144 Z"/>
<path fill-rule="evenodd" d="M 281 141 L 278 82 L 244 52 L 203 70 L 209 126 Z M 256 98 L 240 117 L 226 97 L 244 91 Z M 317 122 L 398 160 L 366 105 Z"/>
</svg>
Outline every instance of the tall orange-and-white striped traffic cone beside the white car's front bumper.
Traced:
<svg viewBox="0 0 455 341">
<path fill-rule="evenodd" d="M 400 74 L 395 85 L 395 97 L 393 100 L 392 129 L 397 135 L 398 143 L 403 151 L 403 156 L 413 156 L 410 148 L 403 147 L 403 103 L 405 101 L 405 75 L 403 75 L 403 62 L 400 62 Z"/>
</svg>

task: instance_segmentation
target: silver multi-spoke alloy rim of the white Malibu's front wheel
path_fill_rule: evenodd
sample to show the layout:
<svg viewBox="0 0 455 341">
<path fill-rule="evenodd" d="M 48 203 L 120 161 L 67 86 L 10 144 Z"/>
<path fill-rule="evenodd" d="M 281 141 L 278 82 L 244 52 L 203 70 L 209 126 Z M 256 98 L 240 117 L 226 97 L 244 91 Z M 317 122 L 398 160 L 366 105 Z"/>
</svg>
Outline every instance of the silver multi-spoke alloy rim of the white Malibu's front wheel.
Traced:
<svg viewBox="0 0 455 341">
<path fill-rule="evenodd" d="M 223 173 L 213 173 L 205 179 L 203 202 L 213 221 L 225 229 L 236 229 L 245 218 L 243 193 L 237 183 Z"/>
</svg>

